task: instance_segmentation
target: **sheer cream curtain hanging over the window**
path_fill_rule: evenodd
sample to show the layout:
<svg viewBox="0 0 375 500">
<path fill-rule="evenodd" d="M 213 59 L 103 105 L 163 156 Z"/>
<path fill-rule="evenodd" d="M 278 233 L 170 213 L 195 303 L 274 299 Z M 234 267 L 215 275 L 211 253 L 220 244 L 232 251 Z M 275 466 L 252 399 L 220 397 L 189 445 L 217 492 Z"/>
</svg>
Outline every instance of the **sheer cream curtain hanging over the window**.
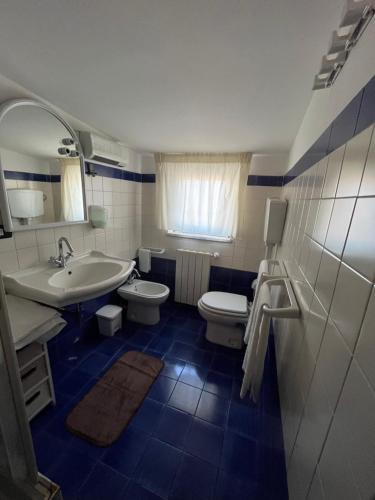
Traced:
<svg viewBox="0 0 375 500">
<path fill-rule="evenodd" d="M 156 154 L 158 227 L 234 238 L 250 157 L 249 153 Z"/>
</svg>

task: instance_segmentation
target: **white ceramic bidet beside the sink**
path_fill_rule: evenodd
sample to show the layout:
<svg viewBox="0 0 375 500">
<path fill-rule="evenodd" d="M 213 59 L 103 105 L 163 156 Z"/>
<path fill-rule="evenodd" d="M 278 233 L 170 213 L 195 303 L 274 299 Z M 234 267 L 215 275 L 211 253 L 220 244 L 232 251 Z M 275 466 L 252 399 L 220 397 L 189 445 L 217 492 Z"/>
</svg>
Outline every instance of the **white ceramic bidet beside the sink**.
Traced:
<svg viewBox="0 0 375 500">
<path fill-rule="evenodd" d="M 118 288 L 117 293 L 128 301 L 128 319 L 144 325 L 156 325 L 160 321 L 159 306 L 167 300 L 169 288 L 161 283 L 134 280 Z"/>
</svg>

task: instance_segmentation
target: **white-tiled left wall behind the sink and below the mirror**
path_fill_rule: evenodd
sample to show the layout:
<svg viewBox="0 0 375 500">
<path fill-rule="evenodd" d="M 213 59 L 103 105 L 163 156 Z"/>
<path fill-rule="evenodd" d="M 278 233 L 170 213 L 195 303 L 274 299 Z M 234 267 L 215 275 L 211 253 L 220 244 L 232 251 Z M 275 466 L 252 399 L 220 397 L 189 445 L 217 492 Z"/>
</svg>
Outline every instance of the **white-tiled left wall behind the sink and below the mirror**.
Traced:
<svg viewBox="0 0 375 500">
<path fill-rule="evenodd" d="M 45 262 L 57 254 L 57 240 L 66 236 L 76 252 L 101 250 L 124 258 L 133 258 L 141 244 L 141 180 L 136 172 L 98 166 L 96 177 L 85 176 L 87 204 L 108 209 L 105 229 L 90 224 L 15 232 L 0 239 L 0 270 L 3 273 Z"/>
</svg>

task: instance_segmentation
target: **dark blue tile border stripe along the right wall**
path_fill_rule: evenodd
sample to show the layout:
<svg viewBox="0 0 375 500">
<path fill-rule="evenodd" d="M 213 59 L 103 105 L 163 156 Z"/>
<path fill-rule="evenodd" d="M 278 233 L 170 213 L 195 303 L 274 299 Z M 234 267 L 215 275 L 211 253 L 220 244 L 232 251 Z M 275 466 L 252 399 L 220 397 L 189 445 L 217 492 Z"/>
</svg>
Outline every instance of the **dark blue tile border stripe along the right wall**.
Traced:
<svg viewBox="0 0 375 500">
<path fill-rule="evenodd" d="M 283 185 L 303 174 L 375 122 L 375 76 L 358 92 L 315 143 L 287 172 Z"/>
</svg>

